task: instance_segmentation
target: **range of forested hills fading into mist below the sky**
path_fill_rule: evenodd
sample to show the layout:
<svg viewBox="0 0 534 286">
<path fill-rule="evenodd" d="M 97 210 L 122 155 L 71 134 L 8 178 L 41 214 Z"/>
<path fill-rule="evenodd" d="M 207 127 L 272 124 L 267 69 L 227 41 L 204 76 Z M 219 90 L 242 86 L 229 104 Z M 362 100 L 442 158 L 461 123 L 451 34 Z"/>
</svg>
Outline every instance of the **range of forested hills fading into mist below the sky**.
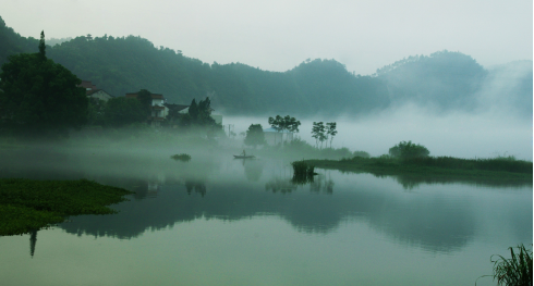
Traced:
<svg viewBox="0 0 534 286">
<path fill-rule="evenodd" d="M 489 83 L 498 82 L 502 94 L 497 97 L 511 98 L 522 114 L 532 115 L 532 61 L 488 71 L 469 55 L 439 51 L 361 76 L 321 59 L 282 73 L 242 63 L 208 64 L 135 36 L 52 42 L 59 43 L 47 48 L 50 59 L 112 96 L 148 89 L 180 104 L 209 96 L 213 108 L 224 114 L 365 114 L 405 102 L 436 112 L 469 111 L 481 105 L 480 94 L 488 91 Z M 37 46 L 37 39 L 20 36 L 0 17 L 0 64 L 9 54 L 36 52 Z"/>
</svg>

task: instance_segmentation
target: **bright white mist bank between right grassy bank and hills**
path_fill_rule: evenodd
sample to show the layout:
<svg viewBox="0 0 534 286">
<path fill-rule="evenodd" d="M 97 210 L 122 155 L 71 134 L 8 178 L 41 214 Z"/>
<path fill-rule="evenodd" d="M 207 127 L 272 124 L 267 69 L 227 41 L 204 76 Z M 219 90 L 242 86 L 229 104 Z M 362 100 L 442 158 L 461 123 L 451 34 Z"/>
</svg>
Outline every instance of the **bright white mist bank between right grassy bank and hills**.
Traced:
<svg viewBox="0 0 534 286">
<path fill-rule="evenodd" d="M 264 129 L 270 127 L 267 120 L 227 116 L 223 124 L 233 124 L 234 132 L 240 134 L 251 124 L 259 123 Z M 337 122 L 338 135 L 333 138 L 333 148 L 363 150 L 374 157 L 388 153 L 389 148 L 399 141 L 412 140 L 427 147 L 430 156 L 466 159 L 514 156 L 517 159 L 533 160 L 532 116 L 525 119 L 513 113 L 480 110 L 436 114 L 428 108 L 405 104 L 368 116 L 341 115 L 332 119 L 317 115 L 298 120 L 302 123 L 299 137 L 312 145 L 315 145 L 311 133 L 313 122 Z"/>
</svg>

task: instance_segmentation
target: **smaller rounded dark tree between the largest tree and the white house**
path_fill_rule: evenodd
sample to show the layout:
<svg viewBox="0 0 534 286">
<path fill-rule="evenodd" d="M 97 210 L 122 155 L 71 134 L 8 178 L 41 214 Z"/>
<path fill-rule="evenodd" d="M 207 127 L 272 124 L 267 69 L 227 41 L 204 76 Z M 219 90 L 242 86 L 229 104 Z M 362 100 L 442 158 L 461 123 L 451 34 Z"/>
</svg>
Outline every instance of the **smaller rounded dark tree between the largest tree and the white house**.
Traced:
<svg viewBox="0 0 534 286">
<path fill-rule="evenodd" d="M 123 127 L 146 121 L 146 110 L 135 98 L 116 97 L 106 103 L 104 122 L 108 126 Z"/>
</svg>

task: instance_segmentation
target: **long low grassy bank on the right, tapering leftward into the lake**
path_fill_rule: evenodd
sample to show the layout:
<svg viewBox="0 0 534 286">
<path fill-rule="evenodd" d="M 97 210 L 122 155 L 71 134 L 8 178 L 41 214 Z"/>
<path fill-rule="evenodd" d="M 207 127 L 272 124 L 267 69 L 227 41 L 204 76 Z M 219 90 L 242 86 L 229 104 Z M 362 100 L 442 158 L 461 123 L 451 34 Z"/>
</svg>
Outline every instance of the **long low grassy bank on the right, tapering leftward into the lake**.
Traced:
<svg viewBox="0 0 534 286">
<path fill-rule="evenodd" d="M 458 159 L 450 157 L 400 160 L 392 158 L 361 158 L 341 160 L 306 160 L 321 169 L 336 169 L 377 176 L 397 175 L 415 181 L 474 181 L 532 185 L 532 162 L 513 158 Z"/>
</svg>

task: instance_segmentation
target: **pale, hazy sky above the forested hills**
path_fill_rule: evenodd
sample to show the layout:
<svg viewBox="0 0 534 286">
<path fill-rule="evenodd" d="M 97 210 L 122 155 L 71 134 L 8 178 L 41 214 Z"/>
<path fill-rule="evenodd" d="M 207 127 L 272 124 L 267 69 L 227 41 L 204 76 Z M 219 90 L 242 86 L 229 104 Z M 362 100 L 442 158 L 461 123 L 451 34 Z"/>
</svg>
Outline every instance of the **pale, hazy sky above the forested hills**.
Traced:
<svg viewBox="0 0 534 286">
<path fill-rule="evenodd" d="M 335 59 L 372 74 L 447 49 L 484 66 L 533 59 L 532 0 L 0 0 L 22 36 L 141 36 L 203 62 L 287 71 Z"/>
</svg>

